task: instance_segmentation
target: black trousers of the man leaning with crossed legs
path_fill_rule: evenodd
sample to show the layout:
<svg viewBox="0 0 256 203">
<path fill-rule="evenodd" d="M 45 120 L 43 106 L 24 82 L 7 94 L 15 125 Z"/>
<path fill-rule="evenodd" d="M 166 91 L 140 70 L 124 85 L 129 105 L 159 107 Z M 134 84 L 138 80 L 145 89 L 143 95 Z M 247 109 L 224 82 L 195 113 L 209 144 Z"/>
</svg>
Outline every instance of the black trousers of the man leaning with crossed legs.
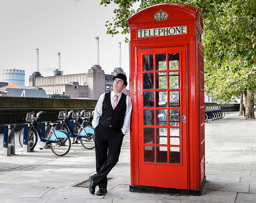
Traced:
<svg viewBox="0 0 256 203">
<path fill-rule="evenodd" d="M 100 124 L 95 128 L 95 155 L 97 174 L 92 176 L 92 182 L 99 188 L 107 188 L 107 175 L 118 162 L 123 142 L 123 132 L 113 130 L 111 127 L 102 127 Z"/>
</svg>

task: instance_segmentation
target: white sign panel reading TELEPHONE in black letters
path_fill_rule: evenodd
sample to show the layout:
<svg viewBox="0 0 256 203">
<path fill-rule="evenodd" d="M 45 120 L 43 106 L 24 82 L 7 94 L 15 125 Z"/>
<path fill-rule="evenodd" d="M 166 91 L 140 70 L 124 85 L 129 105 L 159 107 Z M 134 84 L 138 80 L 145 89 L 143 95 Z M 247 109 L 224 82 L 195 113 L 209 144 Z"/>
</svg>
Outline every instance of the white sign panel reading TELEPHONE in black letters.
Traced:
<svg viewBox="0 0 256 203">
<path fill-rule="evenodd" d="M 138 30 L 138 38 L 187 34 L 187 26 Z"/>
</svg>

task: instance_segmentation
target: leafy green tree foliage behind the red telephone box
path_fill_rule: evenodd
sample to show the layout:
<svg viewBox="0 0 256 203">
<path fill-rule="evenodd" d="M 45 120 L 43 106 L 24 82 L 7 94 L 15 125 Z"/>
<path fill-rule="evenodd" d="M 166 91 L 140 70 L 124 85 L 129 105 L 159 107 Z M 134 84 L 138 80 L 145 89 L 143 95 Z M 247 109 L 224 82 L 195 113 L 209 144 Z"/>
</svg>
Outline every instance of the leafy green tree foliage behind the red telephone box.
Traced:
<svg viewBox="0 0 256 203">
<path fill-rule="evenodd" d="M 106 21 L 107 33 L 128 34 L 128 18 L 136 11 L 172 0 L 102 0 L 115 3 L 113 20 Z M 256 3 L 244 0 L 175 0 L 200 8 L 204 23 L 202 42 L 205 47 L 206 91 L 214 98 L 230 99 L 247 91 L 253 98 L 256 89 Z M 139 3 L 135 11 L 133 6 Z M 128 38 L 125 37 L 125 41 Z M 247 74 L 249 73 L 249 74 Z M 251 95 L 251 96 L 249 96 Z M 246 119 L 255 119 L 253 99 L 246 102 Z"/>
</svg>

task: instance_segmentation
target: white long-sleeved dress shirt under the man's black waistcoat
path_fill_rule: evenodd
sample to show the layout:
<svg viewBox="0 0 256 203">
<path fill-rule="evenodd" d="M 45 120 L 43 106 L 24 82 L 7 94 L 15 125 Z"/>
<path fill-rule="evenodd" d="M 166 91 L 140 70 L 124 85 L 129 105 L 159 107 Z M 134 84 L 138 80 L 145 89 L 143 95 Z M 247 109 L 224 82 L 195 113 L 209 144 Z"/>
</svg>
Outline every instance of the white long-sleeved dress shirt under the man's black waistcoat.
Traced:
<svg viewBox="0 0 256 203">
<path fill-rule="evenodd" d="M 105 94 L 103 93 L 100 95 L 100 98 L 96 104 L 94 114 L 93 114 L 93 119 L 92 119 L 92 127 L 95 128 L 99 124 L 100 117 L 102 115 L 102 104 L 105 99 Z M 118 94 L 118 102 L 121 99 L 122 92 Z M 111 91 L 110 93 L 110 101 L 112 107 L 114 106 L 114 99 L 115 99 L 115 92 Z M 123 127 L 122 127 L 122 132 L 123 134 L 126 134 L 130 131 L 130 121 L 131 121 L 131 97 L 126 95 L 126 111 L 125 111 L 125 118 L 123 122 Z"/>
</svg>

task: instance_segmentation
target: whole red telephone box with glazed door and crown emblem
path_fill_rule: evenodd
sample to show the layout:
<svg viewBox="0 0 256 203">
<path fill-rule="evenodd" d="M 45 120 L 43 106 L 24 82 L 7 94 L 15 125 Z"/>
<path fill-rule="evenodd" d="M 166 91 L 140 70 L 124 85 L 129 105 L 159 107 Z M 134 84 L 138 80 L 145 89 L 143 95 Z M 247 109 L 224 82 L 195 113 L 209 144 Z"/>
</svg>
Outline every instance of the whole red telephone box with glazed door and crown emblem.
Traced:
<svg viewBox="0 0 256 203">
<path fill-rule="evenodd" d="M 204 62 L 198 8 L 158 4 L 128 19 L 132 192 L 200 194 Z"/>
</svg>

